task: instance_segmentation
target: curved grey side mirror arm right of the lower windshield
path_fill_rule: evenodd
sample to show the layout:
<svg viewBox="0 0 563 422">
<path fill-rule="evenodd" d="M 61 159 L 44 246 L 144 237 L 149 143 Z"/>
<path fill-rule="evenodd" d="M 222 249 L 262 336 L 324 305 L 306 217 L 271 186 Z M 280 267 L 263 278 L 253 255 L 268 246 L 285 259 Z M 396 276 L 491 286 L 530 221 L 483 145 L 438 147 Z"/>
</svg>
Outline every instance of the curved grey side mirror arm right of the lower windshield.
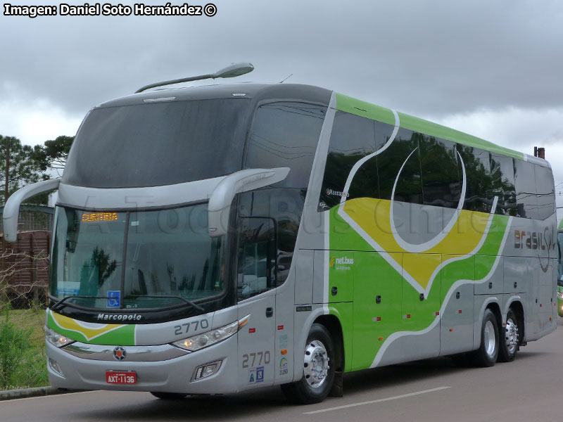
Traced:
<svg viewBox="0 0 563 422">
<path fill-rule="evenodd" d="M 227 234 L 229 211 L 237 193 L 253 191 L 278 181 L 289 174 L 289 167 L 275 169 L 248 169 L 229 174 L 213 189 L 208 205 L 209 236 Z"/>
</svg>

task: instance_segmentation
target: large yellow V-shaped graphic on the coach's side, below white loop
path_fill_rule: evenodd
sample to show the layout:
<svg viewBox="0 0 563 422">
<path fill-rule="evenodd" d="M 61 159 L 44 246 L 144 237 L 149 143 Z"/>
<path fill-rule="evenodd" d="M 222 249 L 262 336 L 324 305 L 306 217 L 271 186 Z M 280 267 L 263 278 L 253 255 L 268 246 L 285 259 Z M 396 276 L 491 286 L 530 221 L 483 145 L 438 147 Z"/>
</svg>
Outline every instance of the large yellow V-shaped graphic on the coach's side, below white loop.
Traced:
<svg viewBox="0 0 563 422">
<path fill-rule="evenodd" d="M 479 245 L 483 234 L 486 233 L 490 217 L 480 212 L 461 210 L 457 222 L 438 245 L 424 250 L 424 253 L 410 253 L 398 245 L 393 236 L 389 218 L 390 207 L 390 200 L 357 198 L 347 200 L 343 210 L 381 246 L 381 250 L 403 252 L 403 254 L 389 253 L 389 256 L 424 289 L 441 264 L 442 254 L 467 255 Z M 403 257 L 402 262 L 398 260 L 400 257 Z"/>
</svg>

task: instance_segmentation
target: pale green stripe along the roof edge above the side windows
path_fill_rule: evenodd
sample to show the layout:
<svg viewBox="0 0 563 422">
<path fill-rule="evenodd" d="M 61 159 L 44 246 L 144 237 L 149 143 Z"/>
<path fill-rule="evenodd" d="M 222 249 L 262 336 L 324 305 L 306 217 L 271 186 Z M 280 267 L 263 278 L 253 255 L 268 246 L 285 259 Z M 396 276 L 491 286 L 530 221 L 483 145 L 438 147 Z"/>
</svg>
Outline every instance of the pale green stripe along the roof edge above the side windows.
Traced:
<svg viewBox="0 0 563 422">
<path fill-rule="evenodd" d="M 395 124 L 395 116 L 388 108 L 375 106 L 372 103 L 360 101 L 339 93 L 336 93 L 336 110 L 341 110 L 346 113 L 366 117 L 368 119 L 377 120 L 387 124 Z M 462 145 L 481 148 L 485 151 L 491 151 L 491 153 L 498 153 L 501 155 L 507 155 L 508 157 L 517 158 L 518 160 L 524 160 L 523 153 L 514 151 L 510 148 L 496 145 L 495 143 L 485 141 L 484 139 L 477 138 L 476 136 L 464 134 L 458 130 L 450 129 L 449 127 L 442 126 L 441 124 L 420 119 L 419 117 L 413 117 L 404 113 L 397 114 L 399 115 L 400 127 L 405 129 L 410 129 L 429 136 L 436 136 L 436 138 L 447 139 L 448 141 L 461 143 Z"/>
</svg>

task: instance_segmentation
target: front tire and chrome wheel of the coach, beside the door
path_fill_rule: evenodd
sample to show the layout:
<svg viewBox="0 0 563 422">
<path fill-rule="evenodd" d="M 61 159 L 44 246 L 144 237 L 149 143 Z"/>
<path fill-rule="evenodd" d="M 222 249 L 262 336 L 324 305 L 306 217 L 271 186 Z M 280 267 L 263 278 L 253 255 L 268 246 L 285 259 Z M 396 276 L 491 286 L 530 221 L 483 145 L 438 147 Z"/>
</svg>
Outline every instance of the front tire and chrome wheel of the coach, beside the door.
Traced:
<svg viewBox="0 0 563 422">
<path fill-rule="evenodd" d="M 281 385 L 281 391 L 293 403 L 322 402 L 334 383 L 335 366 L 334 343 L 329 331 L 321 324 L 312 324 L 303 354 L 303 378 Z"/>
</svg>

